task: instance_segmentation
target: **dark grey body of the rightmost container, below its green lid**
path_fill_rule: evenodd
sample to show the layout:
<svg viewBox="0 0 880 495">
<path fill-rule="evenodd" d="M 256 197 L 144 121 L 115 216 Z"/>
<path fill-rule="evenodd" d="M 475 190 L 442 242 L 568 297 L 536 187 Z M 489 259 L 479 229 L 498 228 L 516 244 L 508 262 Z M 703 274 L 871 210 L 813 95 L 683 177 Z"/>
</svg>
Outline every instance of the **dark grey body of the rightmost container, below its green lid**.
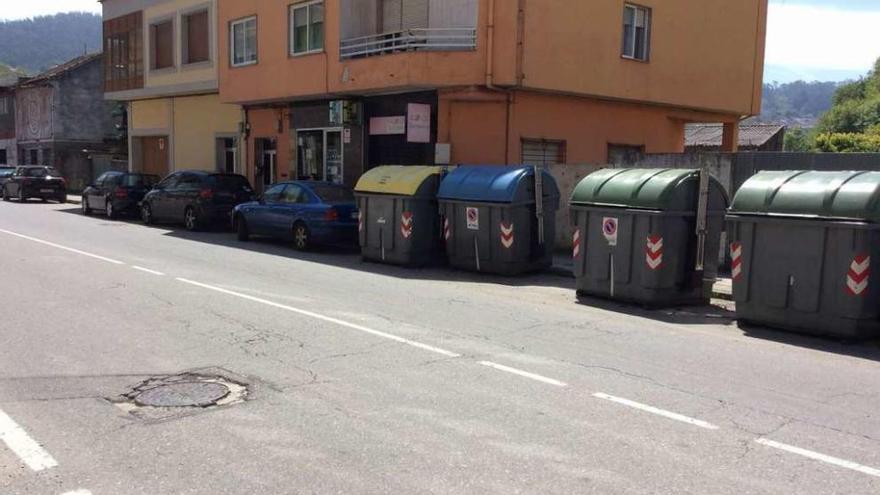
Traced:
<svg viewBox="0 0 880 495">
<path fill-rule="evenodd" d="M 730 215 L 741 323 L 850 339 L 880 336 L 880 225 Z M 737 266 L 739 267 L 737 269 Z"/>
</svg>

